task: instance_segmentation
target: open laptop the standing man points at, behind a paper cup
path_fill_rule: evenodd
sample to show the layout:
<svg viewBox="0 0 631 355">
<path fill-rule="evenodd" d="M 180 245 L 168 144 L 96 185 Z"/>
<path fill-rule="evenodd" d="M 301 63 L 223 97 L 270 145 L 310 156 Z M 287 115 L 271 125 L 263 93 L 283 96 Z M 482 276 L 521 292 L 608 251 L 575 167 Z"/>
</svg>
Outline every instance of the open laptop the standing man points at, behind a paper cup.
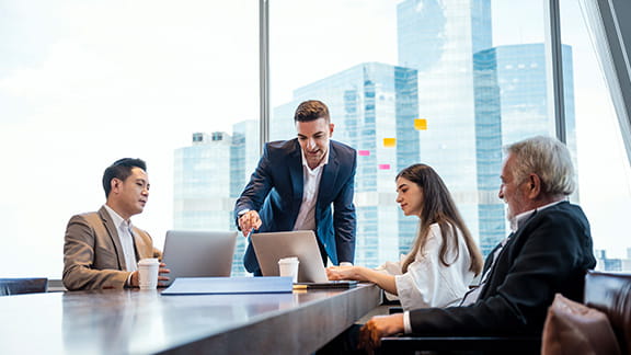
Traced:
<svg viewBox="0 0 631 355">
<path fill-rule="evenodd" d="M 312 230 L 252 233 L 250 239 L 263 276 L 278 276 L 278 260 L 297 256 L 299 285 L 312 288 L 348 288 L 357 285 L 355 280 L 340 282 L 326 278 L 324 263 Z"/>
</svg>

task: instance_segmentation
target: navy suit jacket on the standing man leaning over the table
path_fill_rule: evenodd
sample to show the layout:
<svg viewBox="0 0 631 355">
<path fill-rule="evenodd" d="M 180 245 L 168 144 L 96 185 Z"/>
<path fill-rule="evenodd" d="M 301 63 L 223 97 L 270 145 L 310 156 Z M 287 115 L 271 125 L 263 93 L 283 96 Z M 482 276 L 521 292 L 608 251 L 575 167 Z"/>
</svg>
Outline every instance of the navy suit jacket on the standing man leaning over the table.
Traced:
<svg viewBox="0 0 631 355">
<path fill-rule="evenodd" d="M 334 264 L 353 262 L 356 225 L 353 194 L 357 156 L 355 149 L 333 140 L 329 151 L 329 163 L 322 171 L 316 204 L 316 234 Z M 292 230 L 302 203 L 302 187 L 298 139 L 266 144 L 250 183 L 234 206 L 237 226 L 238 213 L 252 209 L 259 211 L 263 221 L 260 232 Z M 251 273 L 260 268 L 252 244 L 248 245 L 243 264 Z"/>
</svg>

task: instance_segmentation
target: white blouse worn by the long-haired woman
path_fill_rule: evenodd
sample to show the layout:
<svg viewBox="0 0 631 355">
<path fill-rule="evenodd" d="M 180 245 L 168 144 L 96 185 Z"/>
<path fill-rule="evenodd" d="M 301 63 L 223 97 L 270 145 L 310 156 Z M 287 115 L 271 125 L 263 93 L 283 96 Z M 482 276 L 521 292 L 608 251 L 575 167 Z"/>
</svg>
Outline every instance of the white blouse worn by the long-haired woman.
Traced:
<svg viewBox="0 0 631 355">
<path fill-rule="evenodd" d="M 446 261 L 450 263 L 445 266 L 440 262 L 440 247 L 443 237 L 440 227 L 437 224 L 429 226 L 425 250 L 418 251 L 414 261 L 408 265 L 405 274 L 401 271 L 401 265 L 406 255 L 401 255 L 399 262 L 387 262 L 377 270 L 394 275 L 397 293 L 387 293 L 388 299 L 401 301 L 403 310 L 412 310 L 427 307 L 449 307 L 458 306 L 473 279 L 473 272 L 469 271 L 471 257 L 464 237 L 458 231 L 458 256 L 454 250 L 448 250 Z"/>
</svg>

